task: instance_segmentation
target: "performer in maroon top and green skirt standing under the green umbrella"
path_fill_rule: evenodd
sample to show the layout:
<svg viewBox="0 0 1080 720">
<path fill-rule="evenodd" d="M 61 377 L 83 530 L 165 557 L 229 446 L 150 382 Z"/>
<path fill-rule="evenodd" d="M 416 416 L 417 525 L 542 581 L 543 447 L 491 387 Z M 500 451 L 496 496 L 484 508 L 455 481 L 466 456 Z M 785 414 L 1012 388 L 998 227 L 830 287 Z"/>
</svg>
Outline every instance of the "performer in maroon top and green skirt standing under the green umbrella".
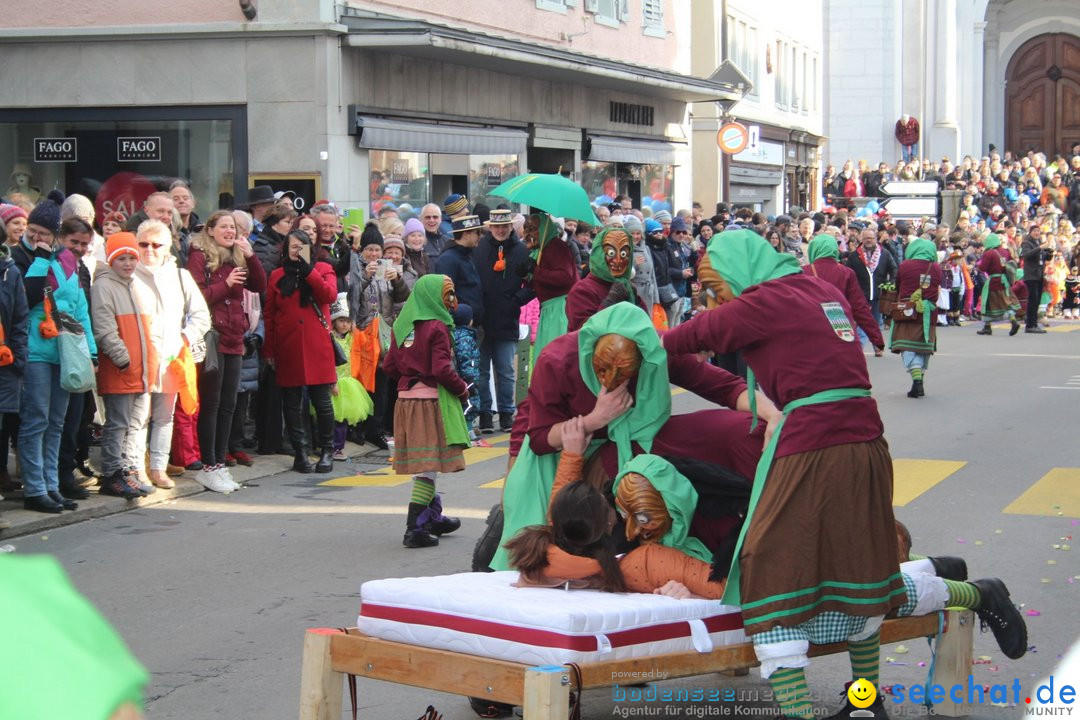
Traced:
<svg viewBox="0 0 1080 720">
<path fill-rule="evenodd" d="M 546 213 L 537 212 L 525 218 L 523 233 L 536 262 L 532 289 L 540 301 L 540 322 L 529 359 L 531 377 L 540 351 L 558 336 L 566 335 L 566 296 L 578 281 L 578 269 L 570 246 L 562 239 L 562 230 Z"/>
</svg>

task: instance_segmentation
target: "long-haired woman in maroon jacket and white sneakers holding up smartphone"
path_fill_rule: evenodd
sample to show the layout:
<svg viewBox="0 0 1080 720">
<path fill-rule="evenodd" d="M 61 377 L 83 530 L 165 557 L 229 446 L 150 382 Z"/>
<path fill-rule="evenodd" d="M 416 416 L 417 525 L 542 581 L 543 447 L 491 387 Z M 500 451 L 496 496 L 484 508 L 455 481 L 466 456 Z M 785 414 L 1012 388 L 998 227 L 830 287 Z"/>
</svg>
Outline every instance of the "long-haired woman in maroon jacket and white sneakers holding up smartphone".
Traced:
<svg viewBox="0 0 1080 720">
<path fill-rule="evenodd" d="M 244 359 L 244 289 L 266 290 L 267 276 L 251 243 L 240 237 L 237 221 L 228 210 L 210 216 L 191 242 L 188 271 L 199 284 L 217 330 L 220 363 L 217 369 L 199 372 L 199 446 L 203 468 L 199 481 L 207 487 L 232 483 L 225 466 L 232 415 L 237 407 L 240 368 Z M 213 348 L 207 348 L 213 352 Z"/>
</svg>

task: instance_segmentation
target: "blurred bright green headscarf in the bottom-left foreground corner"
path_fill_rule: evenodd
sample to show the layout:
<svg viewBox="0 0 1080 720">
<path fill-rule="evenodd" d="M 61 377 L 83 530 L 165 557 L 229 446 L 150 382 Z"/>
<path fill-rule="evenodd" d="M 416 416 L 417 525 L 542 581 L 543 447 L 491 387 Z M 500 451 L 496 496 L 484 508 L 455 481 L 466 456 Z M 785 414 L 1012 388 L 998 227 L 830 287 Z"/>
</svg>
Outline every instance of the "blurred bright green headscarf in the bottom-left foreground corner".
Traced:
<svg viewBox="0 0 1080 720">
<path fill-rule="evenodd" d="M 100 718 L 124 703 L 143 709 L 150 675 L 55 558 L 0 555 L 0 718 Z M 64 680 L 44 678 L 57 670 Z"/>
</svg>

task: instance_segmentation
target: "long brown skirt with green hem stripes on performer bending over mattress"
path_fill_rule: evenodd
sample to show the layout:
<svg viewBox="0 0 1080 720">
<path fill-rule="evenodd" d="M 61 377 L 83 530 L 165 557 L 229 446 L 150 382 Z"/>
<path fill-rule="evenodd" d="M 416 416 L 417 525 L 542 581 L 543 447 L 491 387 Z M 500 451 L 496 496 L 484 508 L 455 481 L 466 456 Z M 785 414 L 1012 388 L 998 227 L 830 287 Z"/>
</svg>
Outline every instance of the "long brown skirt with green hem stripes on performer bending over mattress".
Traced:
<svg viewBox="0 0 1080 720">
<path fill-rule="evenodd" d="M 904 602 L 883 437 L 778 459 L 739 555 L 748 635 Z"/>
</svg>

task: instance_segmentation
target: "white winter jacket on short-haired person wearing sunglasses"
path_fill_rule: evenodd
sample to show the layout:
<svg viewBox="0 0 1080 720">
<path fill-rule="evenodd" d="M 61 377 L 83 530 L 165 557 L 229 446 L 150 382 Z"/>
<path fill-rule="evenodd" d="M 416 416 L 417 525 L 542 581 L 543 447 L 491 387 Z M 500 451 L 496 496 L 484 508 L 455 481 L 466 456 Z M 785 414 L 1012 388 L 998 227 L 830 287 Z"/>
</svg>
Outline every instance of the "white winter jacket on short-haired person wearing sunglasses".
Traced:
<svg viewBox="0 0 1080 720">
<path fill-rule="evenodd" d="M 191 347 L 206 335 L 210 309 L 191 273 L 177 268 L 172 257 L 158 268 L 139 263 L 135 276 L 146 283 L 153 299 L 150 339 L 161 358 L 153 392 L 175 393 L 179 388 L 168 373 L 168 364 L 180 354 L 185 340 Z"/>
</svg>

